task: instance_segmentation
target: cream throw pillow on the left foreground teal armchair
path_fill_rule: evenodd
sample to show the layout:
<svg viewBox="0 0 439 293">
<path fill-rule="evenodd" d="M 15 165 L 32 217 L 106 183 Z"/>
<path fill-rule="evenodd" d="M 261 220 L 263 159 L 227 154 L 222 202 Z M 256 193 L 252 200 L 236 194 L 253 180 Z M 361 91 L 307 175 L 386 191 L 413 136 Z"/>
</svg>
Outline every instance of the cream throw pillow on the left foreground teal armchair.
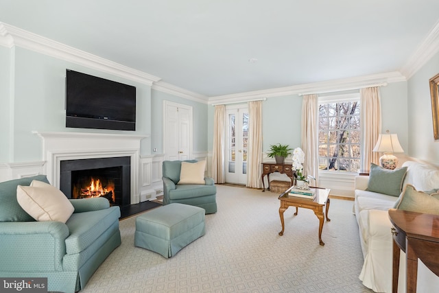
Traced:
<svg viewBox="0 0 439 293">
<path fill-rule="evenodd" d="M 67 222 L 75 210 L 60 189 L 32 180 L 29 186 L 16 188 L 16 200 L 37 221 Z"/>
</svg>

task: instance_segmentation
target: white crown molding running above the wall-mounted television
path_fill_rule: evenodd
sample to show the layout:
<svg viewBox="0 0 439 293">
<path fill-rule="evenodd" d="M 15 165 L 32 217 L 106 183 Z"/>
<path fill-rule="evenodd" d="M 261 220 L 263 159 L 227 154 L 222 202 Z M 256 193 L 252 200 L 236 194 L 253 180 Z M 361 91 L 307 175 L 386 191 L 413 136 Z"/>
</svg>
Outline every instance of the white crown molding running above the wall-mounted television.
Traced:
<svg viewBox="0 0 439 293">
<path fill-rule="evenodd" d="M 22 47 L 149 86 L 161 80 L 161 78 L 154 75 L 120 65 L 6 23 L 0 23 L 0 45 L 9 48 L 14 46 Z"/>
</svg>

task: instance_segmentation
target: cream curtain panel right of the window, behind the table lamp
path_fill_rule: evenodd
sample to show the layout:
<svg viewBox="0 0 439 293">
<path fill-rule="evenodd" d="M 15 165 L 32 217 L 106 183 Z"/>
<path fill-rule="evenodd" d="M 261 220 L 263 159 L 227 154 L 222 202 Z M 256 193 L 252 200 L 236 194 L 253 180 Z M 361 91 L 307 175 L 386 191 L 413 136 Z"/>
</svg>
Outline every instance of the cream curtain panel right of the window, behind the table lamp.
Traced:
<svg viewBox="0 0 439 293">
<path fill-rule="evenodd" d="M 379 154 L 372 152 L 381 133 L 381 97 L 379 87 L 360 89 L 361 172 L 368 172 L 370 163 L 379 162 Z"/>
</svg>

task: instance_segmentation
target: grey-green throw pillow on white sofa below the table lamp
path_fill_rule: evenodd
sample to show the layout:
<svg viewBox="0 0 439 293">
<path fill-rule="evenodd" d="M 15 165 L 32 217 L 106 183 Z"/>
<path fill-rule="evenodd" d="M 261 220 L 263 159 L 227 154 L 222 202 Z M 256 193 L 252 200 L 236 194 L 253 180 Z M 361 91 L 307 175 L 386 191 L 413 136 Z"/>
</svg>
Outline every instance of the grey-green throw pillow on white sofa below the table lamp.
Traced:
<svg viewBox="0 0 439 293">
<path fill-rule="evenodd" d="M 388 196 L 399 196 L 403 189 L 403 180 L 406 172 L 407 167 L 390 170 L 371 163 L 368 188 L 366 190 L 387 194 Z"/>
</svg>

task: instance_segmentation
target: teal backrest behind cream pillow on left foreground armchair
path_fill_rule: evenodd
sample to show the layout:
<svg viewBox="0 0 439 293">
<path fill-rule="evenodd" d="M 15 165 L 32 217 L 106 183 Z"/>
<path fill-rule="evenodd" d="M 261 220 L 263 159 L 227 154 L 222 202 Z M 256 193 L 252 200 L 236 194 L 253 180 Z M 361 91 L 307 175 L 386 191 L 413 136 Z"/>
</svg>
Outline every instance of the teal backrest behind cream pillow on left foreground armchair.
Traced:
<svg viewBox="0 0 439 293">
<path fill-rule="evenodd" d="M 32 180 L 49 183 L 45 175 L 19 178 L 0 183 L 0 222 L 35 221 L 16 200 L 16 187 L 29 186 Z"/>
</svg>

